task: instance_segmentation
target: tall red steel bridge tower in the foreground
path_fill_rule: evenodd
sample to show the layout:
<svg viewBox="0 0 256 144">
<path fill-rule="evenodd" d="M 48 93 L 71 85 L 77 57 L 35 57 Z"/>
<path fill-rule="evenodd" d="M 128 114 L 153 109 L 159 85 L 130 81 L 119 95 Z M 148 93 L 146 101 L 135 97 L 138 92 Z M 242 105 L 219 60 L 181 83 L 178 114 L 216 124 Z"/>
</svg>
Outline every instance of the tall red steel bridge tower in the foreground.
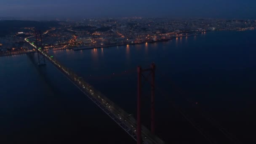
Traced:
<svg viewBox="0 0 256 144">
<path fill-rule="evenodd" d="M 151 131 L 155 133 L 155 63 L 151 64 L 151 67 L 148 69 L 141 69 L 137 67 L 138 70 L 138 97 L 137 97 L 137 144 L 141 144 L 141 79 L 142 77 L 145 80 L 148 80 L 148 77 L 145 77 L 142 72 L 150 72 L 151 74 Z M 150 76 L 150 75 L 149 75 Z"/>
</svg>

